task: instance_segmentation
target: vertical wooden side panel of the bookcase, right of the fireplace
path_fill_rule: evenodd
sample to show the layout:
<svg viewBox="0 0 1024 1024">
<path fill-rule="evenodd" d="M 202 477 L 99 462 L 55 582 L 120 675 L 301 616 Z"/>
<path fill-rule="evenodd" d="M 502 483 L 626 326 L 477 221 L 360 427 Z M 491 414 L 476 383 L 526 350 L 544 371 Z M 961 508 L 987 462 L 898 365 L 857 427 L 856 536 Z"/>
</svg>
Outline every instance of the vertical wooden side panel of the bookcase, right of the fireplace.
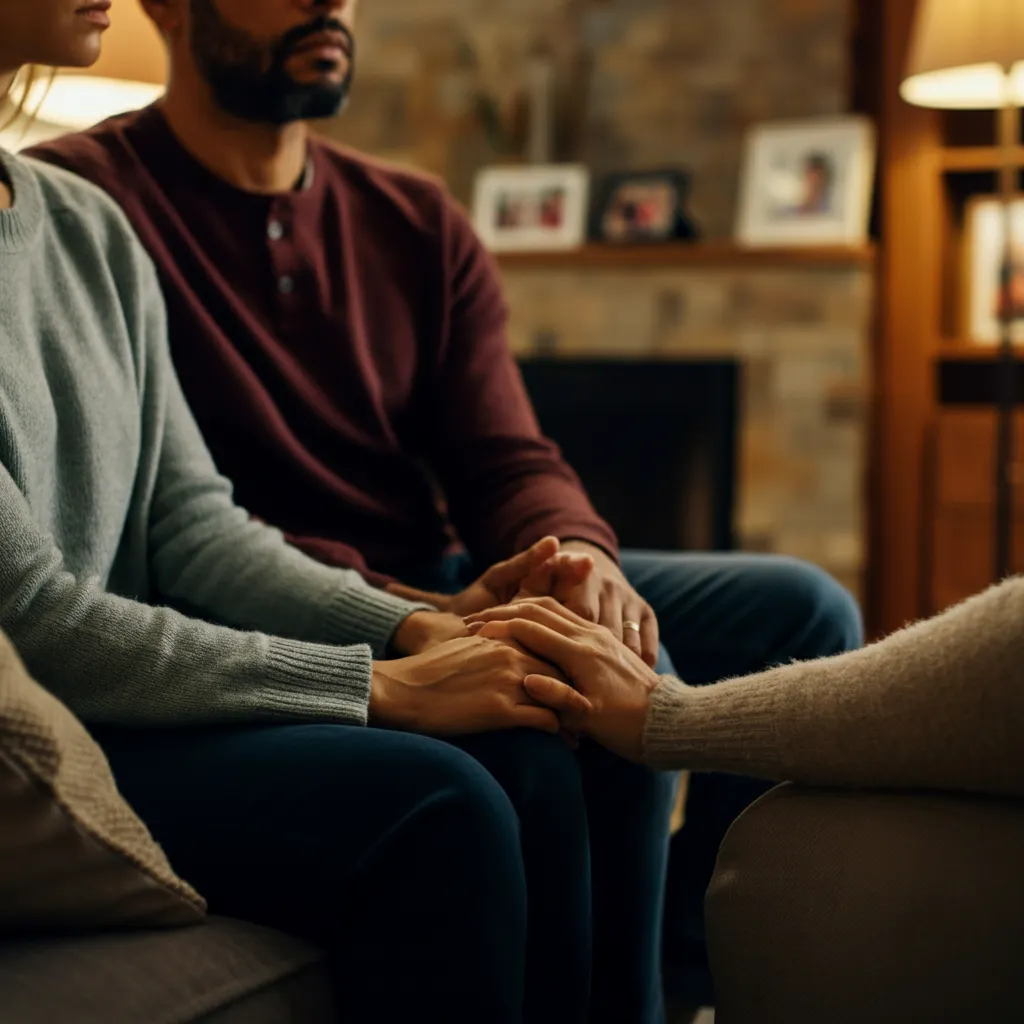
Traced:
<svg viewBox="0 0 1024 1024">
<path fill-rule="evenodd" d="M 940 335 L 942 176 L 934 111 L 899 98 L 916 4 L 886 5 L 882 118 L 881 338 L 873 441 L 869 628 L 890 632 L 927 606 L 926 437 Z"/>
</svg>

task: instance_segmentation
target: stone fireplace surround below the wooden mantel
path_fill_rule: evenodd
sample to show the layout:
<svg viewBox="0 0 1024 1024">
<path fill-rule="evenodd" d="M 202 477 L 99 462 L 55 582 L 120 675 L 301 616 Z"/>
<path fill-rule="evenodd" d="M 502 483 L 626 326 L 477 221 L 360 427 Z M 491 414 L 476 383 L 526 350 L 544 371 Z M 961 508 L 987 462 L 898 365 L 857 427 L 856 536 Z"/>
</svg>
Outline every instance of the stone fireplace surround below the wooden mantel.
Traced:
<svg viewBox="0 0 1024 1024">
<path fill-rule="evenodd" d="M 736 535 L 862 592 L 873 270 L 506 268 L 522 358 L 735 358 Z"/>
</svg>

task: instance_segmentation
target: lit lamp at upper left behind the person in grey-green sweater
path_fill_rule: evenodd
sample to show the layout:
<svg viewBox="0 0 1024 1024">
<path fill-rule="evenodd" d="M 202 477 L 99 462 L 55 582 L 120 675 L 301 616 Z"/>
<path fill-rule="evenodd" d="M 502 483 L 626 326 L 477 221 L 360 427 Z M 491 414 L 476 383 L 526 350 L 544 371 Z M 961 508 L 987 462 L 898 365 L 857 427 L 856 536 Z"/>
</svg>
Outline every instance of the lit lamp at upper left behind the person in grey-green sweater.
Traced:
<svg viewBox="0 0 1024 1024">
<path fill-rule="evenodd" d="M 99 60 L 84 71 L 61 70 L 56 78 L 37 81 L 26 109 L 37 122 L 31 138 L 8 132 L 12 143 L 39 141 L 68 131 L 91 127 L 105 118 L 154 102 L 167 83 L 167 53 L 156 27 L 138 0 L 116 5 L 111 28 L 103 34 Z M 13 147 L 13 146 L 12 146 Z"/>
</svg>

